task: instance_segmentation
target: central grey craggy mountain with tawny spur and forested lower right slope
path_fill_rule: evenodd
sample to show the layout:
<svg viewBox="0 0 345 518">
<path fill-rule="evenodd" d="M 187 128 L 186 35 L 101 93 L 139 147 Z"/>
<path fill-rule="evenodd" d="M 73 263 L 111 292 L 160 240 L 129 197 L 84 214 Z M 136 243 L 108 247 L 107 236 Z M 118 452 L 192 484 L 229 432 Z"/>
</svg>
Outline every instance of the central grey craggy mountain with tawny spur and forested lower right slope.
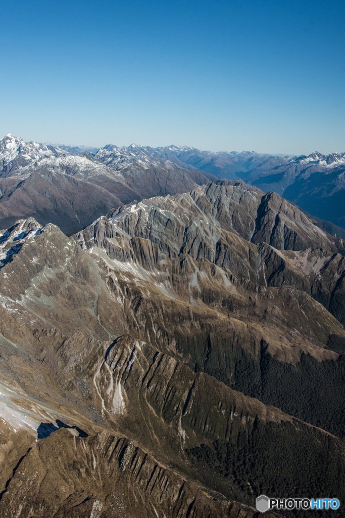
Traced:
<svg viewBox="0 0 345 518">
<path fill-rule="evenodd" d="M 258 216 L 260 211 L 262 217 Z M 109 218 L 85 229 L 79 236 L 82 246 L 100 257 L 104 250 L 107 261 L 111 258 L 116 264 L 125 261 L 128 265 L 134 262 L 138 268 L 154 271 L 162 294 L 189 300 L 193 316 L 186 316 L 186 320 L 196 322 L 192 339 L 188 324 L 186 329 L 179 324 L 182 308 L 168 325 L 165 319 L 161 321 L 157 301 L 151 309 L 151 319 L 156 325 L 161 322 L 168 342 L 179 344 L 179 352 L 190 358 L 193 370 L 208 372 L 250 396 L 274 403 L 284 411 L 289 407 L 289 413 L 344 434 L 342 403 L 339 406 L 336 402 L 343 397 L 342 356 L 324 356 L 326 350 L 343 352 L 343 329 L 336 324 L 336 332 L 331 332 L 326 324 L 327 312 L 320 313 L 320 305 L 309 297 L 342 322 L 343 256 L 337 253 L 337 246 L 343 253 L 342 240 L 321 231 L 278 195 L 262 196 L 238 186 L 209 184 L 185 195 L 154 198 L 117 209 Z M 291 238 L 283 245 L 296 252 L 280 252 L 268 244 L 272 236 L 277 239 L 280 228 Z M 258 246 L 248 242 L 252 234 Z M 306 268 L 298 261 L 303 256 L 310 256 Z M 296 257 L 294 264 L 289 257 Z M 142 270 L 133 267 L 128 266 L 128 271 L 147 278 Z M 223 292 L 224 287 L 215 288 L 216 279 L 231 287 L 231 296 L 227 290 Z M 277 291 L 266 291 L 246 279 L 262 286 L 277 286 Z M 141 307 L 139 301 L 138 304 Z M 215 323 L 204 313 L 199 315 L 199 307 L 204 304 L 216 308 L 217 319 L 220 312 L 227 319 Z M 302 308 L 304 317 L 300 321 Z M 235 320 L 230 323 L 229 318 Z M 246 331 L 239 322 L 246 323 Z M 321 349 L 314 348 L 316 343 L 326 348 L 322 354 Z M 286 368 L 290 377 L 296 377 L 297 399 L 291 398 L 288 384 L 282 384 L 279 390 L 275 387 L 273 373 L 280 369 L 285 376 Z M 328 401 L 326 413 L 324 407 L 318 406 L 321 396 Z M 308 401 L 312 401 L 309 406 Z"/>
</svg>

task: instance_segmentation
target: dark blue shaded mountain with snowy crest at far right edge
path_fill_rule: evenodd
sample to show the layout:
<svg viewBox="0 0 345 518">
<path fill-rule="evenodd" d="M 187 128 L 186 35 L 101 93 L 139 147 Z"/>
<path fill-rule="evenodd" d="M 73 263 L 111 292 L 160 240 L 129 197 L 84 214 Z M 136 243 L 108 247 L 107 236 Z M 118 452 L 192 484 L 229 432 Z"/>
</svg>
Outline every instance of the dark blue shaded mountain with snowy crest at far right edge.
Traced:
<svg viewBox="0 0 345 518">
<path fill-rule="evenodd" d="M 252 169 L 247 181 L 284 195 L 317 218 L 345 227 L 345 153 L 312 153 L 272 165 L 269 159 Z M 333 233 L 341 235 L 337 229 Z"/>
</svg>

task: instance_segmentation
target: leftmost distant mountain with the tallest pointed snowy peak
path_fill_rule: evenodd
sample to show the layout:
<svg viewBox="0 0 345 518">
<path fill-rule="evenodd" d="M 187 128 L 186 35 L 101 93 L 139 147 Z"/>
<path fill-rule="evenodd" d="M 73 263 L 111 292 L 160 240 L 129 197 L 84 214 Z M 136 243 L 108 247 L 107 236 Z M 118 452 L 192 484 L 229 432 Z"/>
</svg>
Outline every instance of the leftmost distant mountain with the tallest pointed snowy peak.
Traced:
<svg viewBox="0 0 345 518">
<path fill-rule="evenodd" d="M 129 201 L 137 197 L 121 175 L 93 157 L 25 143 L 12 135 L 0 142 L 0 160 L 0 223 L 5 228 L 30 215 L 41 224 L 53 222 L 70 235 L 122 205 L 113 193 Z"/>
</svg>

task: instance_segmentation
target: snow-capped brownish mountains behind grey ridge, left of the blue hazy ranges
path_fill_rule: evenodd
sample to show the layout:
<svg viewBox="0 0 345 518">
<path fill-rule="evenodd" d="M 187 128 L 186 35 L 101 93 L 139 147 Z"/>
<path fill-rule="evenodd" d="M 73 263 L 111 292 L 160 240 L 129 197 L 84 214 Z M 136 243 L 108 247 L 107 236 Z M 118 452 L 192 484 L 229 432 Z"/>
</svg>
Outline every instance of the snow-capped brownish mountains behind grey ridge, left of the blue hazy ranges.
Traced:
<svg viewBox="0 0 345 518">
<path fill-rule="evenodd" d="M 161 160 L 158 153 L 142 160 L 140 150 L 125 149 L 116 162 L 109 150 L 100 150 L 95 157 L 90 152 L 75 155 L 7 135 L 0 141 L 1 228 L 19 217 L 33 216 L 71 235 L 114 207 L 185 192 L 213 178 L 166 157 Z"/>
</svg>

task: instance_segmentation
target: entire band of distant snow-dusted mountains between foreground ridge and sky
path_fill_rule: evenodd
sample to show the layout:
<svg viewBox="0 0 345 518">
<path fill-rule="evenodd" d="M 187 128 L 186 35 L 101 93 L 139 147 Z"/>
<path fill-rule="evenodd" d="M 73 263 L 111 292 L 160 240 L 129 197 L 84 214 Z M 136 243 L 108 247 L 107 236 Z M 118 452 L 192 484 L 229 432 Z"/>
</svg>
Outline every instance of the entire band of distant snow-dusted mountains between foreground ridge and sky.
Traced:
<svg viewBox="0 0 345 518">
<path fill-rule="evenodd" d="M 71 235 L 134 200 L 242 179 L 284 195 L 328 233 L 345 237 L 345 153 L 290 157 L 254 151 L 132 144 L 103 148 L 0 141 L 0 227 L 18 217 L 53 222 Z"/>
</svg>

